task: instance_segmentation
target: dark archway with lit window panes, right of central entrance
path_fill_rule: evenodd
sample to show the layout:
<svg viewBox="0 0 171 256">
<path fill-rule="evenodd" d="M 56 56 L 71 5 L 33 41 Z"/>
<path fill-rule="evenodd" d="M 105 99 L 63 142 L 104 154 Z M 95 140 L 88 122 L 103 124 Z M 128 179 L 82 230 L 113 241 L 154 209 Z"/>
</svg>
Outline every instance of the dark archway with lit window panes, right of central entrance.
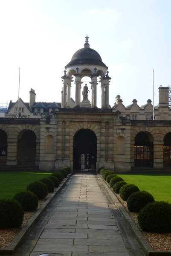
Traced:
<svg viewBox="0 0 171 256">
<path fill-rule="evenodd" d="M 136 167 L 153 167 L 153 137 L 148 132 L 136 134 L 134 164 Z"/>
</svg>

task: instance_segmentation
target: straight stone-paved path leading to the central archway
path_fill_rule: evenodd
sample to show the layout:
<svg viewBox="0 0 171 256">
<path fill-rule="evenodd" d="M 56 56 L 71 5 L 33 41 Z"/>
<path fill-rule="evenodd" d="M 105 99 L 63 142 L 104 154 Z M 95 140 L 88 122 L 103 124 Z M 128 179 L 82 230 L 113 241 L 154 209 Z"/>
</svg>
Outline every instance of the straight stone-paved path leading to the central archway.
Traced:
<svg viewBox="0 0 171 256">
<path fill-rule="evenodd" d="M 131 254 L 132 249 L 127 249 L 127 240 L 124 241 L 119 231 L 96 176 L 89 173 L 75 174 L 70 178 L 42 231 L 32 252 L 26 255 L 143 255 L 138 251 Z"/>
</svg>

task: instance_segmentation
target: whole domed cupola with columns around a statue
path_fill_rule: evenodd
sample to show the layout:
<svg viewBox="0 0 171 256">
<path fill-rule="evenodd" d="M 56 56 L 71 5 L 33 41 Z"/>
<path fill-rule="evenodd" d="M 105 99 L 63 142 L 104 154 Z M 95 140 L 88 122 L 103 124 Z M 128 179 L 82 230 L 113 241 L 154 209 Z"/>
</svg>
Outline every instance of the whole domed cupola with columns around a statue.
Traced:
<svg viewBox="0 0 171 256">
<path fill-rule="evenodd" d="M 109 108 L 109 83 L 111 78 L 108 76 L 108 67 L 101 60 L 99 53 L 90 48 L 88 36 L 85 38 L 84 48 L 74 53 L 71 61 L 65 66 L 64 76 L 61 77 L 63 81 L 61 107 L 71 108 L 71 83 L 74 81 L 75 108 L 97 108 L 98 84 L 101 84 L 101 108 Z M 81 93 L 81 84 L 83 83 L 81 80 L 86 76 L 91 79 L 91 82 L 82 87 Z M 91 95 L 90 100 L 88 99 L 89 95 Z"/>
</svg>

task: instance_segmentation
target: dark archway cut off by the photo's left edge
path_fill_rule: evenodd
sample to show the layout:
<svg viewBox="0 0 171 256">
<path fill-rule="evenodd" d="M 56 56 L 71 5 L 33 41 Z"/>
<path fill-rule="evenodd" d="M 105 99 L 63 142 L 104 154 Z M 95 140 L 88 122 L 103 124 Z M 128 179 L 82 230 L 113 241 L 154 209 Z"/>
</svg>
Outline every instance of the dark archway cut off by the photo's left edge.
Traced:
<svg viewBox="0 0 171 256">
<path fill-rule="evenodd" d="M 6 132 L 0 129 L 0 164 L 6 165 L 7 157 L 7 135 Z"/>
</svg>

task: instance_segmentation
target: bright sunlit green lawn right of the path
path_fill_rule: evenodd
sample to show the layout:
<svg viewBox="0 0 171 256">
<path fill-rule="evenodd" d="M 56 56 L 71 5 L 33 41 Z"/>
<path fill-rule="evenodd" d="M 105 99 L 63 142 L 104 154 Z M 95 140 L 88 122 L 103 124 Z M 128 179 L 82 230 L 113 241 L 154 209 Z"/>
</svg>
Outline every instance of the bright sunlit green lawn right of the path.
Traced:
<svg viewBox="0 0 171 256">
<path fill-rule="evenodd" d="M 127 183 L 135 184 L 154 196 L 155 201 L 171 203 L 171 175 L 169 174 L 117 174 Z"/>
</svg>

